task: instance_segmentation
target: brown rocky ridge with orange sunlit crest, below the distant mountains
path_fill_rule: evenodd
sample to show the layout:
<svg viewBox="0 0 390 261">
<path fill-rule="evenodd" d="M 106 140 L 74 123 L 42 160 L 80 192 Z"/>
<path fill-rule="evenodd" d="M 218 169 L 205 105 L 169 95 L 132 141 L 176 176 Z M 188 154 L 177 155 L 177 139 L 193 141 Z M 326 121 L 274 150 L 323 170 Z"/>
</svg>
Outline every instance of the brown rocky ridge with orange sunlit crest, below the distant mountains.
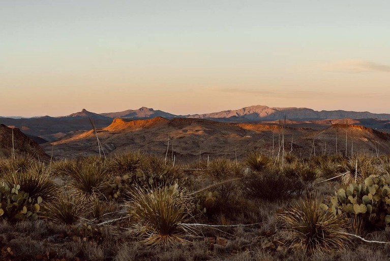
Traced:
<svg viewBox="0 0 390 261">
<path fill-rule="evenodd" d="M 316 125 L 318 126 L 318 125 Z M 154 118 L 147 120 L 115 119 L 109 126 L 98 129 L 99 140 L 107 154 L 128 149 L 141 149 L 148 153 L 165 156 L 169 136 L 169 155 L 177 160 L 187 161 L 207 156 L 217 158 L 242 158 L 249 151 L 260 150 L 269 155 L 277 155 L 284 134 L 285 153 L 309 156 L 313 153 L 345 154 L 347 134 L 347 153 L 353 151 L 365 154 L 390 153 L 390 135 L 375 129 L 338 123 L 317 128 L 303 127 L 297 122 L 286 122 L 282 126 L 269 123 L 224 123 L 204 119 Z M 93 131 L 79 132 L 53 142 L 54 156 L 76 157 L 98 154 L 98 146 Z M 42 144 L 46 151 L 51 145 Z M 281 145 L 280 145 L 281 146 Z M 379 149 L 378 149 L 379 148 Z M 280 150 L 280 153 L 282 149 Z"/>
</svg>

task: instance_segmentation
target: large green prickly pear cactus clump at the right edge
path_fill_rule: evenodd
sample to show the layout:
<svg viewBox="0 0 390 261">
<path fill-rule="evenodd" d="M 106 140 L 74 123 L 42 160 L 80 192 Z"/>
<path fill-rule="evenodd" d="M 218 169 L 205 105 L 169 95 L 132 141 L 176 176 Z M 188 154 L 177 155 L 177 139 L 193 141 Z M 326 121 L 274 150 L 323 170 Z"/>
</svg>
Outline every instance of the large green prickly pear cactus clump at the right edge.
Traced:
<svg viewBox="0 0 390 261">
<path fill-rule="evenodd" d="M 360 216 L 366 225 L 383 228 L 390 224 L 390 176 L 371 175 L 363 184 L 343 186 L 322 207 L 335 215 Z"/>
</svg>

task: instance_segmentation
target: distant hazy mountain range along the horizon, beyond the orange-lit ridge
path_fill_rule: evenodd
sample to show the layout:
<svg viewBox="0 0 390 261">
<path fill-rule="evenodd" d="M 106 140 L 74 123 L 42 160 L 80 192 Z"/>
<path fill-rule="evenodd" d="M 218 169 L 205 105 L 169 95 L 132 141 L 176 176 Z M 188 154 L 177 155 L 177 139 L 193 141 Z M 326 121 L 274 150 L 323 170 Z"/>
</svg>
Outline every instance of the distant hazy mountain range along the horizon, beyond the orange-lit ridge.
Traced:
<svg viewBox="0 0 390 261">
<path fill-rule="evenodd" d="M 338 123 L 364 125 L 366 127 L 390 131 L 390 114 L 374 114 L 370 112 L 353 111 L 315 111 L 308 108 L 271 108 L 267 106 L 250 106 L 238 110 L 227 110 L 207 114 L 175 115 L 152 108 L 141 107 L 137 110 L 127 110 L 111 113 L 94 113 L 82 109 L 80 112 L 61 117 L 34 117 L 34 118 L 0 118 L 0 123 L 6 126 L 19 128 L 38 143 L 52 142 L 67 135 L 92 129 L 91 121 L 96 128 L 104 128 L 110 125 L 115 118 L 122 119 L 152 119 L 162 117 L 209 119 L 219 122 L 273 122 L 283 120 L 286 117 L 291 124 L 315 128 L 314 125 L 330 125 L 335 119 Z M 329 119 L 333 119 L 329 120 Z M 341 120 L 344 119 L 344 120 Z M 348 120 L 349 119 L 349 120 Z M 341 121 L 341 122 L 340 122 Z M 295 123 L 293 123 L 295 122 Z M 39 138 L 36 138 L 39 137 Z"/>
</svg>

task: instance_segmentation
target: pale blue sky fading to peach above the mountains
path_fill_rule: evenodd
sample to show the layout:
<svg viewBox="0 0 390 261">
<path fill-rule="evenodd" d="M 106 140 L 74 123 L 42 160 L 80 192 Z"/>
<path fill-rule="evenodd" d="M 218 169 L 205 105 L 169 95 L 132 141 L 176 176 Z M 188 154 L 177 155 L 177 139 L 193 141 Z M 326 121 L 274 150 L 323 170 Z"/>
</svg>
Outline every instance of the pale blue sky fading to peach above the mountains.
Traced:
<svg viewBox="0 0 390 261">
<path fill-rule="evenodd" d="M 390 1 L 0 0 L 0 116 L 390 113 Z"/>
</svg>

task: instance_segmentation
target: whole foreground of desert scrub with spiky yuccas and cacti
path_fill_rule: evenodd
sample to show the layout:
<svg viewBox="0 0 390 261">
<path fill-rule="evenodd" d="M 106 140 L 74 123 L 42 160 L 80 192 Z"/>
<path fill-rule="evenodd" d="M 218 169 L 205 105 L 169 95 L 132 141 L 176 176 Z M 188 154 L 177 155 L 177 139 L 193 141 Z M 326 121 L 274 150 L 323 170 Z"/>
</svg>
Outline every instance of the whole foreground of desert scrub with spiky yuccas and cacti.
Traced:
<svg viewBox="0 0 390 261">
<path fill-rule="evenodd" d="M 16 260 L 47 258 L 43 244 L 65 260 L 387 258 L 349 233 L 390 242 L 388 158 L 285 159 L 1 160 L 0 238 Z"/>
</svg>

